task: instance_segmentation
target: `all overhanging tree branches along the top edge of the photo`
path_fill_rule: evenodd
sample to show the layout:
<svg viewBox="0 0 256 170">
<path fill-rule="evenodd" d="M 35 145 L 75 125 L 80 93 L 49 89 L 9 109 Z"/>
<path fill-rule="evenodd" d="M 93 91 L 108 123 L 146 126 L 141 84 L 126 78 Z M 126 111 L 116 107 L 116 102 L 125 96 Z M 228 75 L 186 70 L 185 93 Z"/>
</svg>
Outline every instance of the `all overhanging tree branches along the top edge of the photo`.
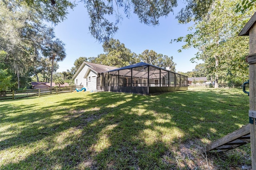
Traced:
<svg viewBox="0 0 256 170">
<path fill-rule="evenodd" d="M 68 8 L 74 9 L 76 3 L 71 0 L 24 0 L 16 2 L 26 3 L 44 16 L 47 21 L 58 24 L 63 21 Z M 150 26 L 157 26 L 159 18 L 167 17 L 178 6 L 177 0 L 81 0 L 90 17 L 90 34 L 99 42 L 110 40 L 118 31 L 118 24 L 123 15 L 130 18 L 133 12 L 138 16 L 141 23 Z M 214 0 L 186 0 L 179 2 L 185 7 L 176 14 L 179 22 L 186 23 L 192 19 L 200 20 L 208 14 Z M 114 19 L 113 17 L 114 16 Z"/>
</svg>

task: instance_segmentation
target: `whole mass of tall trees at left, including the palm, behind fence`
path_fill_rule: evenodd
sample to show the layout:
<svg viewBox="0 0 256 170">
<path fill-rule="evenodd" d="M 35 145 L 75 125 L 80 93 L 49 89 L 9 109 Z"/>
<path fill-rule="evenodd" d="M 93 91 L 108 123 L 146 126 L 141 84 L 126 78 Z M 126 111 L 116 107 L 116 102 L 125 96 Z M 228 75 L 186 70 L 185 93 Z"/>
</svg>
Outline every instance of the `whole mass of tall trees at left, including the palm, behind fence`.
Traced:
<svg viewBox="0 0 256 170">
<path fill-rule="evenodd" d="M 30 88 L 30 77 L 38 73 L 51 81 L 66 57 L 65 44 L 43 13 L 23 1 L 0 1 L 0 91 Z"/>
</svg>

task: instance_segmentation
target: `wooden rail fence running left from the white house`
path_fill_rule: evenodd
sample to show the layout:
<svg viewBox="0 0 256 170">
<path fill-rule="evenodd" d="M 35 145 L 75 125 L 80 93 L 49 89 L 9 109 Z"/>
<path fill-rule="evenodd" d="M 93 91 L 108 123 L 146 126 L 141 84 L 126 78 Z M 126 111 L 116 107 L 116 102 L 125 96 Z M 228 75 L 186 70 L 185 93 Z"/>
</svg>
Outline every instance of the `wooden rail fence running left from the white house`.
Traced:
<svg viewBox="0 0 256 170">
<path fill-rule="evenodd" d="M 60 93 L 70 93 L 76 88 L 82 88 L 83 86 L 69 86 L 69 87 L 52 87 L 46 89 L 27 89 L 16 91 L 1 91 L 0 100 L 2 99 L 22 99 L 32 96 L 45 96 L 45 95 L 57 95 Z"/>
</svg>

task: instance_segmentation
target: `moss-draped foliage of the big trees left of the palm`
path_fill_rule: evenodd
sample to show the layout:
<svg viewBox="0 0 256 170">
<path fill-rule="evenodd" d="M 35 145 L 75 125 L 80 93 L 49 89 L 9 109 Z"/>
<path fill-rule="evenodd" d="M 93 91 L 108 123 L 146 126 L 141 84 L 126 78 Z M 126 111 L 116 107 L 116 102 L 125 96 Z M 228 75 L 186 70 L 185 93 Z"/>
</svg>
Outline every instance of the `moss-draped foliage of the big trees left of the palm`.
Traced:
<svg viewBox="0 0 256 170">
<path fill-rule="evenodd" d="M 49 81 L 51 68 L 58 69 L 55 61 L 51 63 L 42 57 L 42 52 L 58 39 L 53 28 L 43 22 L 47 11 L 38 10 L 45 4 L 36 4 L 38 2 L 31 1 L 36 5 L 31 8 L 24 1 L 0 1 L 0 50 L 7 52 L 1 62 L 12 75 L 15 86 L 18 84 L 16 77 L 20 77 L 21 87 L 29 88 L 31 74 L 39 81 L 37 74 L 42 73 L 43 81 Z"/>
</svg>

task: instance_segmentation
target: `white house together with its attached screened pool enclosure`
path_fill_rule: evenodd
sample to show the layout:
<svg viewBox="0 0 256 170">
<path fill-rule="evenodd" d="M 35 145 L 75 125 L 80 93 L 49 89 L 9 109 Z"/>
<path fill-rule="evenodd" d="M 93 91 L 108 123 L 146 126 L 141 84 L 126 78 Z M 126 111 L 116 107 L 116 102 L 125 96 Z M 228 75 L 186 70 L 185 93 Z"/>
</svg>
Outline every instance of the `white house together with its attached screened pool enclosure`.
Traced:
<svg viewBox="0 0 256 170">
<path fill-rule="evenodd" d="M 122 68 L 84 61 L 74 76 L 86 90 L 152 94 L 188 89 L 188 77 L 147 63 Z"/>
</svg>

